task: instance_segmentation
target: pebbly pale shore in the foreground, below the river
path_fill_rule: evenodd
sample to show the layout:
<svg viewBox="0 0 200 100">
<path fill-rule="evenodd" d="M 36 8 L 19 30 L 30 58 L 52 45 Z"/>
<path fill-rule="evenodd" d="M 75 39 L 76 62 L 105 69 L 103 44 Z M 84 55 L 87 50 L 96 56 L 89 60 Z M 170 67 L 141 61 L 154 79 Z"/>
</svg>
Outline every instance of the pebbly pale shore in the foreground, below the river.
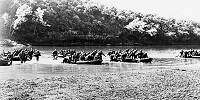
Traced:
<svg viewBox="0 0 200 100">
<path fill-rule="evenodd" d="M 155 69 L 10 79 L 1 82 L 0 99 L 200 99 L 199 73 Z"/>
</svg>

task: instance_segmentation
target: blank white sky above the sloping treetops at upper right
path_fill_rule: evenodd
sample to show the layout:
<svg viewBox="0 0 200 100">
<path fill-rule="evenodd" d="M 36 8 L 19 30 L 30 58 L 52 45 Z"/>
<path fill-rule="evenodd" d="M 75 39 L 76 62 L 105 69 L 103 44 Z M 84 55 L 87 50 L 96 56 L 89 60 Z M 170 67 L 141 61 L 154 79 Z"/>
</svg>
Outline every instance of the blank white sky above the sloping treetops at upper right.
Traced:
<svg viewBox="0 0 200 100">
<path fill-rule="evenodd" d="M 200 22 L 200 0 L 92 0 L 119 9 Z"/>
</svg>

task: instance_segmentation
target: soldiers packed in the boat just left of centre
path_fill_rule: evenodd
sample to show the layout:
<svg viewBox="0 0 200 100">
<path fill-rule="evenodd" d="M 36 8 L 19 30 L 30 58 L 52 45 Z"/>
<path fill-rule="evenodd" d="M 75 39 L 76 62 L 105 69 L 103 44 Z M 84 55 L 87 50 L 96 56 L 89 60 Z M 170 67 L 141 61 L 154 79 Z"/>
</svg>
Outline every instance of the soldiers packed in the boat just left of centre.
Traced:
<svg viewBox="0 0 200 100">
<path fill-rule="evenodd" d="M 101 60 L 102 56 L 105 56 L 102 51 L 94 50 L 92 52 L 77 52 L 75 50 L 60 50 L 56 49 L 52 52 L 54 60 L 57 60 L 58 57 L 63 57 L 63 63 L 76 63 L 77 61 L 94 61 Z"/>
</svg>

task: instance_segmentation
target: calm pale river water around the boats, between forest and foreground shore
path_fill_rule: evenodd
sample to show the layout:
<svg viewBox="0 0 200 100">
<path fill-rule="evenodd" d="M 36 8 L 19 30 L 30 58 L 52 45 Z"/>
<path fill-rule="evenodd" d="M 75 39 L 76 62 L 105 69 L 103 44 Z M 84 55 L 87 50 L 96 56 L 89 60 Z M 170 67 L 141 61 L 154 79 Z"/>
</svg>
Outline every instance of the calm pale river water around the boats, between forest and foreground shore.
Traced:
<svg viewBox="0 0 200 100">
<path fill-rule="evenodd" d="M 11 66 L 0 66 L 0 80 L 8 79 L 31 79 L 36 77 L 64 76 L 74 74 L 95 74 L 95 73 L 120 73 L 136 70 L 151 69 L 168 69 L 180 66 L 189 66 L 197 68 L 200 65 L 200 59 L 184 59 L 178 58 L 177 55 L 183 50 L 195 49 L 200 50 L 199 45 L 174 45 L 174 46 L 71 46 L 71 47 L 53 47 L 53 46 L 32 46 L 29 48 L 41 51 L 39 62 L 35 59 L 31 62 L 21 64 L 14 62 Z M 74 65 L 62 64 L 62 59 L 53 60 L 51 53 L 54 49 L 75 49 L 76 51 L 93 51 L 102 50 L 107 54 L 109 49 L 125 50 L 125 49 L 142 49 L 153 58 L 150 64 L 143 63 L 116 63 L 109 62 L 109 57 L 104 57 L 102 65 Z M 0 47 L 3 51 L 13 51 L 17 47 Z"/>
</svg>

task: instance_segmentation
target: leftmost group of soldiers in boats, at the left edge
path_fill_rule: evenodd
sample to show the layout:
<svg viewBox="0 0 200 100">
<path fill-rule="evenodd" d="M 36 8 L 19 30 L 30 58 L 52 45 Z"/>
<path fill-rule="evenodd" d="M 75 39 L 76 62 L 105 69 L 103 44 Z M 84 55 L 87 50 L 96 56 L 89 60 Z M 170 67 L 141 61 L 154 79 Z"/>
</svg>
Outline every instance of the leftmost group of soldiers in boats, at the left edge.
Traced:
<svg viewBox="0 0 200 100">
<path fill-rule="evenodd" d="M 39 61 L 39 57 L 41 56 L 41 53 L 39 50 L 32 48 L 30 49 L 18 49 L 14 50 L 13 52 L 10 51 L 3 51 L 1 56 L 6 57 L 7 59 L 11 61 L 21 61 L 21 63 L 25 63 L 26 61 L 32 60 L 33 56 L 36 57 L 36 60 Z"/>
</svg>

